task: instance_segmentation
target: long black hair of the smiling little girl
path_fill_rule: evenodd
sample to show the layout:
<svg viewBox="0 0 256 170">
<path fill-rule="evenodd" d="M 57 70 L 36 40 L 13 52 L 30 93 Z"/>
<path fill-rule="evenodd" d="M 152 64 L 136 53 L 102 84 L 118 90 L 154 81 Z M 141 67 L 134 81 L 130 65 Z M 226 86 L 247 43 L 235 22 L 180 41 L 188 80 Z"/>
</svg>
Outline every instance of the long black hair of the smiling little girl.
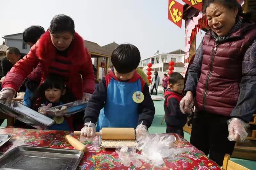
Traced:
<svg viewBox="0 0 256 170">
<path fill-rule="evenodd" d="M 33 109 L 38 109 L 38 106 L 35 106 L 36 104 L 39 104 L 39 107 L 41 107 L 41 104 L 45 104 L 47 102 L 44 92 L 46 89 L 52 88 L 60 90 L 66 89 L 66 93 L 60 97 L 60 101 L 63 104 L 75 101 L 73 93 L 66 87 L 62 78 L 60 78 L 60 76 L 51 75 L 36 89 L 34 95 L 31 97 L 31 106 Z"/>
</svg>

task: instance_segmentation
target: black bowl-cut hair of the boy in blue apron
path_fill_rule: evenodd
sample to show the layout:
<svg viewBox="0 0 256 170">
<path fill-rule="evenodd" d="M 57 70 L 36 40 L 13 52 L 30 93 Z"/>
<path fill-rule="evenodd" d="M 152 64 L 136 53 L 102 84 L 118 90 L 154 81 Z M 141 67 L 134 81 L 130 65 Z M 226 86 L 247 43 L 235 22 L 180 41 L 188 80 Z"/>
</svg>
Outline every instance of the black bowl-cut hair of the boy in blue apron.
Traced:
<svg viewBox="0 0 256 170">
<path fill-rule="evenodd" d="M 121 44 L 113 51 L 111 62 L 118 73 L 130 73 L 140 64 L 140 51 L 132 44 Z"/>
</svg>

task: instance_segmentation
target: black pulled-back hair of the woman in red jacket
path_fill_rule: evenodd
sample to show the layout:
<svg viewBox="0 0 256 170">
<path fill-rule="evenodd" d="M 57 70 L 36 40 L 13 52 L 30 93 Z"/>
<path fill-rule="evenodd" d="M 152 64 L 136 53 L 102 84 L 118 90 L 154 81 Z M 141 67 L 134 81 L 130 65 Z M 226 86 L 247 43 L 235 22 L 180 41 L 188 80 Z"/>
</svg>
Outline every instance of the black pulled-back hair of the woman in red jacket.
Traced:
<svg viewBox="0 0 256 170">
<path fill-rule="evenodd" d="M 67 15 L 59 14 L 55 15 L 51 21 L 49 32 L 51 34 L 58 34 L 64 31 L 75 34 L 75 23 L 72 18 Z"/>
</svg>

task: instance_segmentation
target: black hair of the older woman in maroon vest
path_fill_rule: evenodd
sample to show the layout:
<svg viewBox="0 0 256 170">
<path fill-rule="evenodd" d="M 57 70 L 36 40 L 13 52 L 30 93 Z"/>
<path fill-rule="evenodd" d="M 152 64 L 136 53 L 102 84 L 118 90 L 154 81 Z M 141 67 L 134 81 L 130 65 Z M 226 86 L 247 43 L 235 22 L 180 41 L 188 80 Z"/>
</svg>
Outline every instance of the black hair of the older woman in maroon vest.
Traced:
<svg viewBox="0 0 256 170">
<path fill-rule="evenodd" d="M 243 12 L 242 6 L 237 2 L 237 0 L 204 0 L 203 3 L 203 12 L 206 13 L 206 8 L 209 7 L 212 3 L 220 3 L 224 5 L 226 8 L 229 8 L 230 10 L 236 10 L 238 9 L 237 15 L 240 17 L 243 17 L 243 20 L 245 22 L 255 22 L 255 12 L 250 11 L 250 12 Z"/>
</svg>

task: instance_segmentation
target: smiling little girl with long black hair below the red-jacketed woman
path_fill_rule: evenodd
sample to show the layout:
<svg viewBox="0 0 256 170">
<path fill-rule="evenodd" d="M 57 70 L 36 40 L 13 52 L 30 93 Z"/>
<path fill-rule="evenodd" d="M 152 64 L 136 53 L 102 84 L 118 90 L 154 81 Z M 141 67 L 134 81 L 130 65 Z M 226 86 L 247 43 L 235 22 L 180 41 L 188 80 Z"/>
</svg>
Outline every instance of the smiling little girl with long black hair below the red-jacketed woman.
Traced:
<svg viewBox="0 0 256 170">
<path fill-rule="evenodd" d="M 32 109 L 45 114 L 50 107 L 66 104 L 75 100 L 74 95 L 67 89 L 64 81 L 59 76 L 48 77 L 41 84 L 31 97 Z M 44 105 L 43 107 L 42 104 Z M 47 115 L 55 120 L 55 124 L 48 129 L 52 130 L 73 130 L 73 117 Z"/>
</svg>

